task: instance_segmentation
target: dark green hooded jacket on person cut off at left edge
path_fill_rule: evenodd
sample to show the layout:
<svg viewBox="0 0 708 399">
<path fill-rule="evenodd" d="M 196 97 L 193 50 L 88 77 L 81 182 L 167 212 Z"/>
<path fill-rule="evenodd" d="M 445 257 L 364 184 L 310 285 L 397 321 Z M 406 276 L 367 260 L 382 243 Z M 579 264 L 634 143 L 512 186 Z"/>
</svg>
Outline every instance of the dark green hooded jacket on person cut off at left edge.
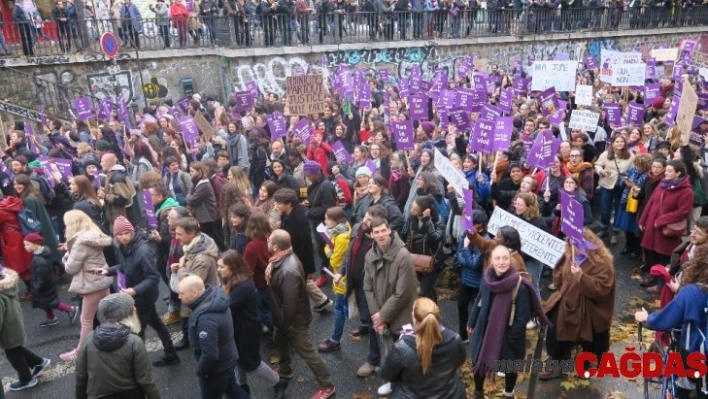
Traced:
<svg viewBox="0 0 708 399">
<path fill-rule="evenodd" d="M 22 308 L 17 298 L 19 276 L 12 269 L 2 271 L 0 280 L 0 348 L 12 349 L 25 344 Z"/>
</svg>

